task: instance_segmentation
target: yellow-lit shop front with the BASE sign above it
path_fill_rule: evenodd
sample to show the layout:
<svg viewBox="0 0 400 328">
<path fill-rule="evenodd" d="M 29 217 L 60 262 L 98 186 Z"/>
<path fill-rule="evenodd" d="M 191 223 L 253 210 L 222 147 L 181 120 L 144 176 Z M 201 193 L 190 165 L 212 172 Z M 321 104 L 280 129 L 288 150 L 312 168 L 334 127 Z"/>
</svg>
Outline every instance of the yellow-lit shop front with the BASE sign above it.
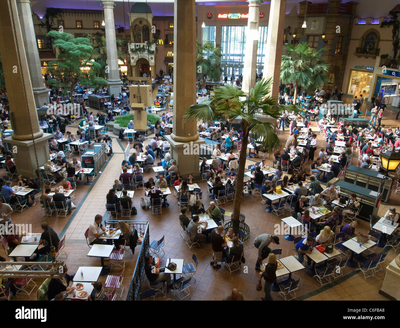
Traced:
<svg viewBox="0 0 400 328">
<path fill-rule="evenodd" d="M 350 96 L 368 95 L 372 83 L 374 67 L 355 65 L 355 69 L 350 70 L 349 82 L 346 93 Z"/>
</svg>

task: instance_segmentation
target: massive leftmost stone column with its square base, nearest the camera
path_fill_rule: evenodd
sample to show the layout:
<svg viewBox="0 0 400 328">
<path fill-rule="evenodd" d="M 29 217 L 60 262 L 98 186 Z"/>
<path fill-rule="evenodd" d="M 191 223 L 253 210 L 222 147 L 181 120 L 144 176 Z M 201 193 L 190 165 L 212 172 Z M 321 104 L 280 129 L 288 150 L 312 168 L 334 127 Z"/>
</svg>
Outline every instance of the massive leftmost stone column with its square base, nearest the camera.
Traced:
<svg viewBox="0 0 400 328">
<path fill-rule="evenodd" d="M 16 30 L 16 38 L 14 36 L 14 28 Z M 50 159 L 47 139 L 51 135 L 43 133 L 39 128 L 15 0 L 11 1 L 11 7 L 8 1 L 0 1 L 0 49 L 4 50 L 4 53 L 2 53 L 2 65 L 8 103 L 10 104 L 11 124 L 14 130 L 12 136 L 4 138 L 3 141 L 11 146 L 10 150 L 14 155 L 17 172 L 25 177 L 30 177 L 34 175 L 34 170 L 37 167 L 34 147 L 32 147 L 33 141 L 29 117 L 32 123 L 39 165 L 43 165 L 47 159 Z"/>
</svg>

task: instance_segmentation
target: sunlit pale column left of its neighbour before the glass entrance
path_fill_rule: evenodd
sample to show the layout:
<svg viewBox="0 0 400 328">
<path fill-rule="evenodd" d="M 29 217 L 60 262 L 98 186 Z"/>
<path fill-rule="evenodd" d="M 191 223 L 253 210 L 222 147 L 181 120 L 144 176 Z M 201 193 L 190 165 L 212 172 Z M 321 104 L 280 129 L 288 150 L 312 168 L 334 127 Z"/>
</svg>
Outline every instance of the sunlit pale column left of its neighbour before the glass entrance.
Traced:
<svg viewBox="0 0 400 328">
<path fill-rule="evenodd" d="M 260 20 L 260 1 L 248 0 L 249 3 L 249 18 L 247 21 L 248 30 L 256 29 L 258 31 L 258 22 Z M 256 22 L 252 26 L 252 22 Z M 269 28 L 269 26 L 268 26 Z M 244 66 L 243 66 L 243 82 L 242 90 L 249 93 L 252 87 L 256 84 L 256 69 L 257 69 L 257 45 L 258 40 L 253 40 L 250 33 L 246 35 L 246 48 L 244 49 Z"/>
</svg>

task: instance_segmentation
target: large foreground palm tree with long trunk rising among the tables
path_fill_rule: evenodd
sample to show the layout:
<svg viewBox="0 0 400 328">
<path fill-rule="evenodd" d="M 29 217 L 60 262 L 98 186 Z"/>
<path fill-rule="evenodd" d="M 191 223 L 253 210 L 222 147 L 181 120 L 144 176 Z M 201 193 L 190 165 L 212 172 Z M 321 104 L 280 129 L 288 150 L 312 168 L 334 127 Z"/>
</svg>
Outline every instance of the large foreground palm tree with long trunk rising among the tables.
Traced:
<svg viewBox="0 0 400 328">
<path fill-rule="evenodd" d="M 275 121 L 262 122 L 260 115 L 269 115 L 278 119 L 285 110 L 299 113 L 301 108 L 296 105 L 278 105 L 277 99 L 270 96 L 272 78 L 262 79 L 246 95 L 236 85 L 214 87 L 215 97 L 192 105 L 186 110 L 184 121 L 196 119 L 197 121 L 226 121 L 241 117 L 243 131 L 242 149 L 238 160 L 238 174 L 236 176 L 235 198 L 233 203 L 234 229 L 236 230 L 240 218 L 240 204 L 242 202 L 244 168 L 246 165 L 246 149 L 250 131 L 255 140 L 260 140 L 262 147 L 272 153 L 272 149 L 280 147 L 280 141 L 275 133 Z M 242 100 L 245 99 L 245 100 Z M 244 108 L 246 110 L 244 110 Z"/>
</svg>

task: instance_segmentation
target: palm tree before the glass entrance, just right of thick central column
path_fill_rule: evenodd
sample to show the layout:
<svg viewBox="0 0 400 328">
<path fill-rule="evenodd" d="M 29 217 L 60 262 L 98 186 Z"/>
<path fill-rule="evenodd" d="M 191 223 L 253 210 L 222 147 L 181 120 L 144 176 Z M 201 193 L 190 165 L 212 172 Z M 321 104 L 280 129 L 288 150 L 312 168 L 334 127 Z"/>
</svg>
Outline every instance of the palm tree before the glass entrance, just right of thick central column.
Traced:
<svg viewBox="0 0 400 328">
<path fill-rule="evenodd" d="M 210 41 L 205 41 L 202 46 L 196 41 L 196 70 L 202 80 L 203 88 L 206 87 L 206 76 L 210 80 L 219 80 L 222 74 L 221 47 L 214 47 Z M 199 72 L 199 66 L 201 68 Z"/>
</svg>

